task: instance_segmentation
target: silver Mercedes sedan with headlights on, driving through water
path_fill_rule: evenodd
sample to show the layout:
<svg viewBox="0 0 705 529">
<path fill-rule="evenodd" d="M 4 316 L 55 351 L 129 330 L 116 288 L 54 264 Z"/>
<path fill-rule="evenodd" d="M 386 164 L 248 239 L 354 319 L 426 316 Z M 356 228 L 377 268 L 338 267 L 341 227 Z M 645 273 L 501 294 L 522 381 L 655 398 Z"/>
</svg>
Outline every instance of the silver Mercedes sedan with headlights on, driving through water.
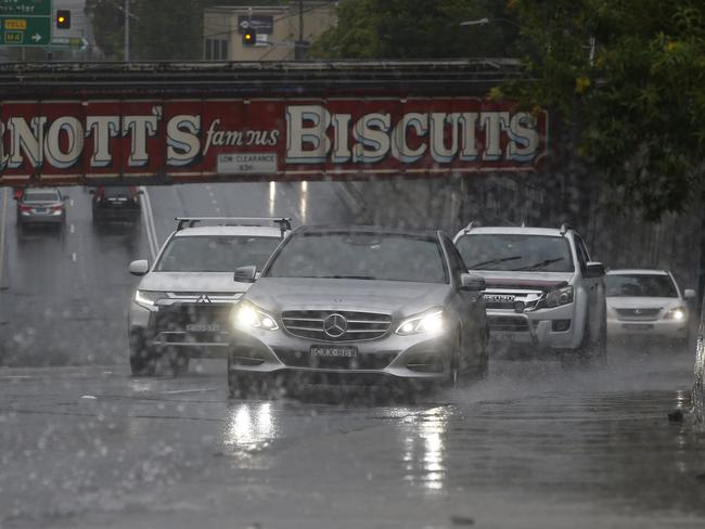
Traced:
<svg viewBox="0 0 705 529">
<path fill-rule="evenodd" d="M 255 274 L 242 267 L 235 280 Z M 233 309 L 230 392 L 292 373 L 313 383 L 484 377 L 484 287 L 439 231 L 299 228 Z"/>
</svg>

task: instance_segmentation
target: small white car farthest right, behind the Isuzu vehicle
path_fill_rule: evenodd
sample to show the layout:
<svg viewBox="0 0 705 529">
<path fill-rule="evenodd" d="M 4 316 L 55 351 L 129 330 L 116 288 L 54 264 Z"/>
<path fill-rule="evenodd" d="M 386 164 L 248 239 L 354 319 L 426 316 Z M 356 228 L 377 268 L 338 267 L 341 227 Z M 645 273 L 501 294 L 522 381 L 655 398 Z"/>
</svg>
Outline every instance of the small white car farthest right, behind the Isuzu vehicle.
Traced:
<svg viewBox="0 0 705 529">
<path fill-rule="evenodd" d="M 690 288 L 681 292 L 668 270 L 610 270 L 607 285 L 607 335 L 613 339 L 665 338 L 688 343 Z"/>
</svg>

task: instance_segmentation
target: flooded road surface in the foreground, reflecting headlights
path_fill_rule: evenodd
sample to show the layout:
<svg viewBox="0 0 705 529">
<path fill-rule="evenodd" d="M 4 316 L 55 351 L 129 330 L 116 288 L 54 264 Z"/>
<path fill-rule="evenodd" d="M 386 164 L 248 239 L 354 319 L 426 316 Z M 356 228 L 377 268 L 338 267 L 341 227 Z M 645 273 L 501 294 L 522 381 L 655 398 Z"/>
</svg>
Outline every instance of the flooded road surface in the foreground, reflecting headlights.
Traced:
<svg viewBox="0 0 705 529">
<path fill-rule="evenodd" d="M 691 354 L 495 362 L 415 403 L 227 398 L 225 366 L 0 371 L 0 527 L 702 527 Z M 359 397 L 359 395 L 358 395 Z"/>
</svg>

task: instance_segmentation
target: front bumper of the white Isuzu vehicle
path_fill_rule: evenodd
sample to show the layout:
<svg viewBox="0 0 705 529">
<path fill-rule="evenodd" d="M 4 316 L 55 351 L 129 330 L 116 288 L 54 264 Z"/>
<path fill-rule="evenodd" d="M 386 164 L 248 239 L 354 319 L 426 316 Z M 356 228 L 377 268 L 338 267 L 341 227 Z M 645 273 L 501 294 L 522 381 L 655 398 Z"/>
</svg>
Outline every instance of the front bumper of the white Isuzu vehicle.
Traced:
<svg viewBox="0 0 705 529">
<path fill-rule="evenodd" d="M 530 312 L 487 309 L 487 322 L 496 348 L 575 349 L 582 339 L 575 304 Z"/>
</svg>

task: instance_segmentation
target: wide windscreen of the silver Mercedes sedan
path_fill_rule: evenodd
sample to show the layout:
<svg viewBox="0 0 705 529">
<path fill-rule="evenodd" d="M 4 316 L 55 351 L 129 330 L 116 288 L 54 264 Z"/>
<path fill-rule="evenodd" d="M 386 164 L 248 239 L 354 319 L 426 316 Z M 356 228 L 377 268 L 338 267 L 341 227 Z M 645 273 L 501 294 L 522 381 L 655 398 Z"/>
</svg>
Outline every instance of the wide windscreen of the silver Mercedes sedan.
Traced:
<svg viewBox="0 0 705 529">
<path fill-rule="evenodd" d="M 266 275 L 448 282 L 435 237 L 361 232 L 295 235 L 277 255 Z"/>
</svg>

